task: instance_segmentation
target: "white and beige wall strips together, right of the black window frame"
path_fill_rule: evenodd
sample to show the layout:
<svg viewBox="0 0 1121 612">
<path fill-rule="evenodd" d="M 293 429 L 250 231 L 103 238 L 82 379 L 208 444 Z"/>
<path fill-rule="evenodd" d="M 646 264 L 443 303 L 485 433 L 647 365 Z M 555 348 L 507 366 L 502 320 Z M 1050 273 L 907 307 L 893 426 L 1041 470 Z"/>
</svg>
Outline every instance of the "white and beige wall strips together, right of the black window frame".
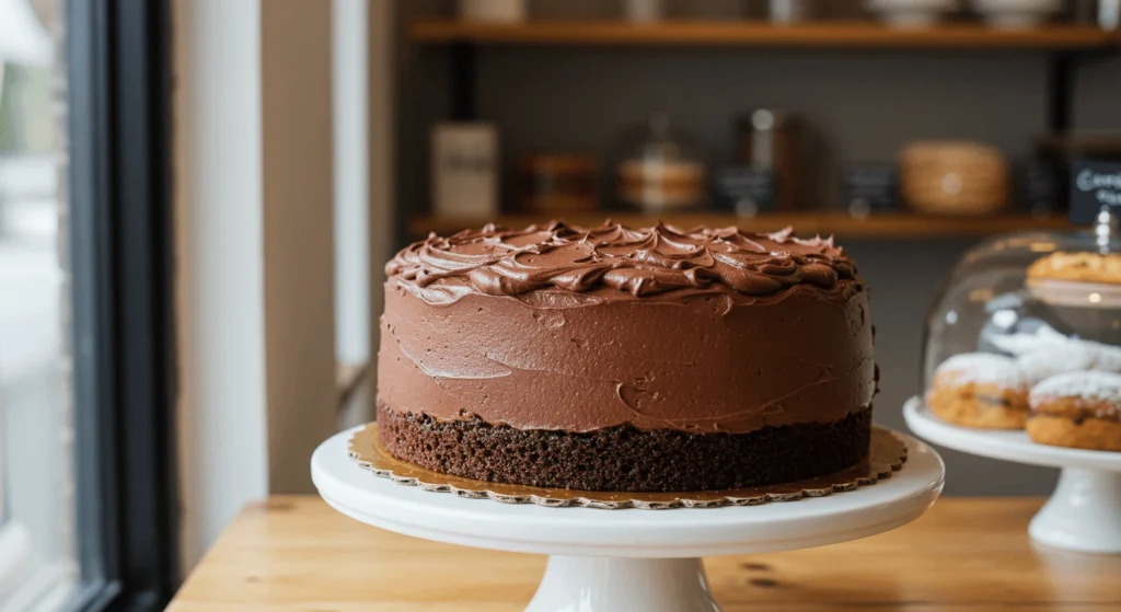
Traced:
<svg viewBox="0 0 1121 612">
<path fill-rule="evenodd" d="M 175 3 L 183 557 L 334 429 L 330 2 Z"/>
</svg>

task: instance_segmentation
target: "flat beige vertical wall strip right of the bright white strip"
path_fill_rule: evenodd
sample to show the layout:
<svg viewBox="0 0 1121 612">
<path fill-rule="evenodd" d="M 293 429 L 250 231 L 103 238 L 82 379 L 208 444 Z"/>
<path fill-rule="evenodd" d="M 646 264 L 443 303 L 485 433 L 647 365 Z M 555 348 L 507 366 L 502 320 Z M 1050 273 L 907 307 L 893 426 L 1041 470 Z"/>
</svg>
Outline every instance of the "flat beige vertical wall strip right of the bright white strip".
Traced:
<svg viewBox="0 0 1121 612">
<path fill-rule="evenodd" d="M 258 1 L 269 492 L 311 493 L 308 460 L 339 410 L 332 6 Z"/>
</svg>

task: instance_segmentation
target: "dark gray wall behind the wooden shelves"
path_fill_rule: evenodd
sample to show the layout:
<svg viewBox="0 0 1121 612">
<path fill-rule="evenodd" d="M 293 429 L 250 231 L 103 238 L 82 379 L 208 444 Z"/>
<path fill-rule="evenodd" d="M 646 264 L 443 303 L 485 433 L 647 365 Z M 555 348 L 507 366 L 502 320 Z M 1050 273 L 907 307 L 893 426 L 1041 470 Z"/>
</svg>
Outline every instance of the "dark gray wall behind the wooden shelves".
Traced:
<svg viewBox="0 0 1121 612">
<path fill-rule="evenodd" d="M 758 2 L 702 2 L 734 13 Z M 825 3 L 819 3 L 825 4 Z M 833 16 L 852 6 L 830 3 Z M 677 1 L 671 12 L 695 15 Z M 418 16 L 448 15 L 445 0 L 401 2 L 398 31 Z M 611 2 L 537 0 L 550 18 L 611 17 Z M 501 130 L 509 163 L 539 150 L 608 155 L 620 128 L 661 110 L 693 133 L 712 161 L 728 160 L 733 120 L 758 106 L 803 114 L 818 135 L 814 154 L 819 201 L 832 204 L 837 160 L 889 160 L 919 138 L 992 142 L 1011 157 L 1028 152 L 1046 127 L 1046 54 L 1039 52 L 861 52 L 735 48 L 482 47 L 478 64 L 481 118 Z M 400 217 L 428 207 L 428 127 L 447 117 L 448 61 L 443 47 L 398 41 Z M 1078 72 L 1075 124 L 1118 130 L 1121 58 Z M 404 232 L 399 234 L 404 238 Z M 899 414 L 919 388 L 923 319 L 938 284 L 967 241 L 849 242 L 872 286 L 882 393 L 878 420 L 904 428 Z M 1044 493 L 1055 473 L 944 451 L 952 494 Z"/>
</svg>

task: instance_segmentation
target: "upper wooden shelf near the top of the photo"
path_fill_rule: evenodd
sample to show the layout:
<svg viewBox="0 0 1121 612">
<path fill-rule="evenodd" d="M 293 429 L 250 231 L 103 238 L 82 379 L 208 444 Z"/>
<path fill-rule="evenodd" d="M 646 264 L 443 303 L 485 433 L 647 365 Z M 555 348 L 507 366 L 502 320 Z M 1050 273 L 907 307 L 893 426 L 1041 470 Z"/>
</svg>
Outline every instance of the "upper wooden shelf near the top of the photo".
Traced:
<svg viewBox="0 0 1121 612">
<path fill-rule="evenodd" d="M 946 24 L 900 29 L 876 21 L 822 21 L 776 26 L 765 21 L 527 21 L 472 24 L 455 20 L 416 21 L 414 43 L 439 45 L 693 45 L 747 47 L 853 48 L 1037 48 L 1084 49 L 1118 40 L 1093 26 L 1050 25 L 1022 30 L 980 24 Z"/>
</svg>

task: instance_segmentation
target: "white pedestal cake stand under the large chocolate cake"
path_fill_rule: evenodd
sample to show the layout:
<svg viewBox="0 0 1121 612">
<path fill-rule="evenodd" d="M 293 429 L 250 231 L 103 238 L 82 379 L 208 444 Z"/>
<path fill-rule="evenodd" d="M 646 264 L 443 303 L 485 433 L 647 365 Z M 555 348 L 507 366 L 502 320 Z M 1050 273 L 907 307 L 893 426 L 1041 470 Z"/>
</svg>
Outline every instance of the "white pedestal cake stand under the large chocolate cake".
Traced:
<svg viewBox="0 0 1121 612">
<path fill-rule="evenodd" d="M 715 612 L 701 557 L 809 548 L 863 538 L 918 518 L 945 467 L 902 436 L 908 461 L 890 479 L 825 498 L 673 510 L 544 508 L 471 500 L 396 484 L 346 454 L 351 432 L 312 456 L 312 480 L 340 512 L 447 544 L 550 555 L 528 612 Z"/>
</svg>

